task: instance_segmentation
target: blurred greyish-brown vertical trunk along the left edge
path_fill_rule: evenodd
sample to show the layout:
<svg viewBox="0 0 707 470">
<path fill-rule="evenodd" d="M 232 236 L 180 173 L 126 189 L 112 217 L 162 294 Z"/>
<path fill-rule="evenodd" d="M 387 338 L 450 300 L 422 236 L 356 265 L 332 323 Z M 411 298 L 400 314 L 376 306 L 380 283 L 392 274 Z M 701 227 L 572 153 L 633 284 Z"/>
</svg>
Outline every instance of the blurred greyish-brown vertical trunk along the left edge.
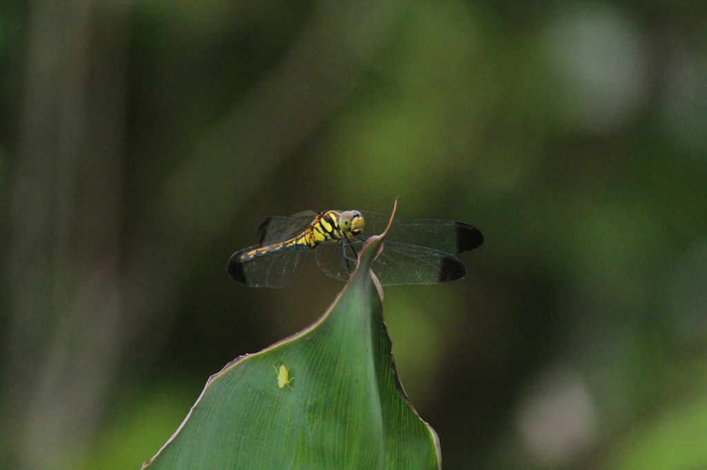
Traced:
<svg viewBox="0 0 707 470">
<path fill-rule="evenodd" d="M 6 256 L 4 468 L 71 465 L 115 368 L 126 6 L 33 3 Z"/>
</svg>

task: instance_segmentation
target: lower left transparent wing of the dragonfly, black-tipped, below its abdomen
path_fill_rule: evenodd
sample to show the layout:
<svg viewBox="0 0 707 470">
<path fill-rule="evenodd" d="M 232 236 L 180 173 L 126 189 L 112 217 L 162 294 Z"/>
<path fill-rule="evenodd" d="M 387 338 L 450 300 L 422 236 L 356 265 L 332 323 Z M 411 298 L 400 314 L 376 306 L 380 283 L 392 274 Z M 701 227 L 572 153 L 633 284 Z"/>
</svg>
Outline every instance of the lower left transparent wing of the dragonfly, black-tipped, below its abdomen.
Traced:
<svg viewBox="0 0 707 470">
<path fill-rule="evenodd" d="M 300 274 L 308 250 L 279 251 L 241 261 L 241 255 L 255 250 L 250 246 L 236 251 L 228 260 L 228 275 L 250 287 L 285 287 Z"/>
</svg>

